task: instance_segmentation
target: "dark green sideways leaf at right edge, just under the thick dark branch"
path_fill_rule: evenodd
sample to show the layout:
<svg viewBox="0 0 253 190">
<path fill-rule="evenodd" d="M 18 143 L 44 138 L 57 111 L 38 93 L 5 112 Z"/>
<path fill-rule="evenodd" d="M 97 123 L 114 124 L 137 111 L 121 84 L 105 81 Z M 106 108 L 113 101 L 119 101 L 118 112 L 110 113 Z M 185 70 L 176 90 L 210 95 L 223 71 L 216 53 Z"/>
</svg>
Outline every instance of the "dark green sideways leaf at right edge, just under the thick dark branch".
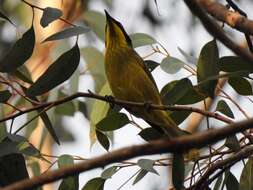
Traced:
<svg viewBox="0 0 253 190">
<path fill-rule="evenodd" d="M 253 65 L 237 56 L 225 56 L 219 59 L 219 69 L 225 72 L 247 71 L 253 72 Z"/>
</svg>

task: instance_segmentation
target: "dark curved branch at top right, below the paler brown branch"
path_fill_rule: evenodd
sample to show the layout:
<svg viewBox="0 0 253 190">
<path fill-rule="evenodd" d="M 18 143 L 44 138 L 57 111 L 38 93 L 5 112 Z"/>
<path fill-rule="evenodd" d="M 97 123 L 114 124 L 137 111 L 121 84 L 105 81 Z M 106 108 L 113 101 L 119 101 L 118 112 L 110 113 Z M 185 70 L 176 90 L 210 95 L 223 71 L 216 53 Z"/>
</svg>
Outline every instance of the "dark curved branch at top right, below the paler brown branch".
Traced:
<svg viewBox="0 0 253 190">
<path fill-rule="evenodd" d="M 205 11 L 198 4 L 198 0 L 184 0 L 186 5 L 196 15 L 206 30 L 221 41 L 226 47 L 231 49 L 235 54 L 241 56 L 243 59 L 252 62 L 253 55 L 245 48 L 240 47 L 238 44 L 234 43 L 226 34 L 223 29 L 212 19 L 210 18 Z"/>
</svg>

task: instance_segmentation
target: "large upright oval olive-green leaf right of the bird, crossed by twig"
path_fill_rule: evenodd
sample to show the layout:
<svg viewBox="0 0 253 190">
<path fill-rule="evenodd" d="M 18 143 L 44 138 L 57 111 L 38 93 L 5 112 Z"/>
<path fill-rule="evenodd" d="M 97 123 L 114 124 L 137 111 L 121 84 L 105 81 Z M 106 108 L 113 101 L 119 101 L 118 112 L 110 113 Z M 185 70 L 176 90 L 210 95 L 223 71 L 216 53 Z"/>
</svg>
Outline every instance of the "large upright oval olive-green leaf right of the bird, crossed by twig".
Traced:
<svg viewBox="0 0 253 190">
<path fill-rule="evenodd" d="M 197 65 L 198 83 L 219 74 L 218 61 L 219 52 L 217 44 L 215 40 L 212 40 L 208 42 L 200 52 Z M 204 85 L 200 85 L 200 88 L 204 93 L 213 98 L 217 82 L 218 80 L 208 81 Z"/>
</svg>

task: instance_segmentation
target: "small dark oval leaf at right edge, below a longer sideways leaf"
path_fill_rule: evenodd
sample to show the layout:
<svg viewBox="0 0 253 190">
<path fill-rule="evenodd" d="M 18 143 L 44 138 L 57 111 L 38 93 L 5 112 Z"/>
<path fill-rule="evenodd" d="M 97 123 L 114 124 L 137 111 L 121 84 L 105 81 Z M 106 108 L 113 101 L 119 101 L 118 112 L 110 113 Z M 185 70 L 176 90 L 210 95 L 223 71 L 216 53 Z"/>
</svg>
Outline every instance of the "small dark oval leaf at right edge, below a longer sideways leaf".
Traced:
<svg viewBox="0 0 253 190">
<path fill-rule="evenodd" d="M 240 95 L 252 95 L 252 86 L 249 81 L 242 77 L 230 77 L 228 79 L 230 86 Z"/>
</svg>

